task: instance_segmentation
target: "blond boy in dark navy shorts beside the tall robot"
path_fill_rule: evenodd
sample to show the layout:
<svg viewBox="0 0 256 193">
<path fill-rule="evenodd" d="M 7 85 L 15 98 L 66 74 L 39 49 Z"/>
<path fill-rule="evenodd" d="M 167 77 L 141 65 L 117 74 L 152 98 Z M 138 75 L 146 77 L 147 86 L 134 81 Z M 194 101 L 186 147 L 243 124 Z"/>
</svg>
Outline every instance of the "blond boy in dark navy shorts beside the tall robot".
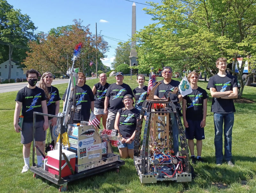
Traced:
<svg viewBox="0 0 256 193">
<path fill-rule="evenodd" d="M 204 127 L 207 113 L 207 92 L 197 86 L 198 74 L 191 72 L 188 74 L 188 82 L 190 82 L 192 93 L 183 97 L 182 114 L 183 125 L 186 128 L 185 133 L 188 139 L 188 147 L 190 151 L 190 159 L 192 163 L 196 161 L 204 162 L 201 157 L 204 136 Z M 197 157 L 194 152 L 194 139 L 196 139 Z"/>
</svg>

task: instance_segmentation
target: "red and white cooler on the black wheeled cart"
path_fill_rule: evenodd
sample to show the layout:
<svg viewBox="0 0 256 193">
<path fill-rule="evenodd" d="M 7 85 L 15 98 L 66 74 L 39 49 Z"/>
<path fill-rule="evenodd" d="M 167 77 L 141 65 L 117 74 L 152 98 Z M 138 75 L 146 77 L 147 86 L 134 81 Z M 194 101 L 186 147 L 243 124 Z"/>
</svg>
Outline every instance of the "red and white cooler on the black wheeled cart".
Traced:
<svg viewBox="0 0 256 193">
<path fill-rule="evenodd" d="M 76 153 L 62 149 L 62 153 L 65 153 L 65 155 L 68 158 L 68 161 L 70 162 L 73 170 L 75 171 L 75 164 L 76 164 Z M 47 157 L 47 163 L 45 165 L 48 166 L 48 171 L 52 174 L 59 175 L 59 156 L 60 151 L 59 149 L 48 151 Z M 71 175 L 71 171 L 68 167 L 67 162 L 65 161 L 63 155 L 61 155 L 61 177 L 65 177 L 68 175 Z"/>
</svg>

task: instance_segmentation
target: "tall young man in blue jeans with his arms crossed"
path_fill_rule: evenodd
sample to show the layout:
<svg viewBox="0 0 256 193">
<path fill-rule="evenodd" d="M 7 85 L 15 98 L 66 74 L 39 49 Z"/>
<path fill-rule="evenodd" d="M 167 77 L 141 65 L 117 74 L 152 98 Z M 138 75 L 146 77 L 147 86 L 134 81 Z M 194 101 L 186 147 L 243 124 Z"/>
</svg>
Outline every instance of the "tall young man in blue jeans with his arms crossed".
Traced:
<svg viewBox="0 0 256 193">
<path fill-rule="evenodd" d="M 236 112 L 233 98 L 237 98 L 237 80 L 235 76 L 229 75 L 226 72 L 227 59 L 218 58 L 216 67 L 219 69 L 217 75 L 210 77 L 207 89 L 212 95 L 212 109 L 215 137 L 215 157 L 216 164 L 220 166 L 223 161 L 223 145 L 222 135 L 224 130 L 224 159 L 228 165 L 234 166 L 232 163 L 232 128 L 234 125 L 234 112 Z M 224 123 L 224 128 L 223 128 Z"/>
</svg>

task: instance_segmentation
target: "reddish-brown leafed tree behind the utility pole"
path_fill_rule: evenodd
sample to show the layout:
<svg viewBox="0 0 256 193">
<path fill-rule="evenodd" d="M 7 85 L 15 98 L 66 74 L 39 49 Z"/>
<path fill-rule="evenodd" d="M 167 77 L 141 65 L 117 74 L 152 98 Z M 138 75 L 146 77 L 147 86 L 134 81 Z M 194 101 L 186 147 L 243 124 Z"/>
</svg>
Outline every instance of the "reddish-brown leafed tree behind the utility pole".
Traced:
<svg viewBox="0 0 256 193">
<path fill-rule="evenodd" d="M 74 23 L 51 29 L 49 35 L 46 38 L 41 38 L 40 42 L 31 41 L 29 43 L 31 50 L 24 61 L 27 68 L 33 66 L 40 72 L 52 69 L 52 72 L 66 73 L 67 68 L 72 65 L 71 58 L 76 44 L 82 42 L 83 47 L 75 67 L 89 73 L 90 69 L 94 68 L 94 65 L 89 67 L 90 61 L 94 63 L 96 61 L 96 37 L 90 32 L 89 25 L 84 26 L 81 20 L 76 19 Z M 101 64 L 100 58 L 105 57 L 108 43 L 100 34 L 97 37 L 97 48 L 97 59 Z"/>
</svg>

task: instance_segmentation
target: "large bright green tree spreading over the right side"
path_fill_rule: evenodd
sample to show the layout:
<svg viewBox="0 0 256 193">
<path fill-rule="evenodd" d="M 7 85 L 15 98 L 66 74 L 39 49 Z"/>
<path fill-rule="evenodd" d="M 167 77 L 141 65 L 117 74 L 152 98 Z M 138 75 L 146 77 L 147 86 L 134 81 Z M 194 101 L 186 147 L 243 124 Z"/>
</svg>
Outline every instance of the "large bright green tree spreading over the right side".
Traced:
<svg viewBox="0 0 256 193">
<path fill-rule="evenodd" d="M 140 68 L 160 66 L 163 62 L 190 70 L 215 69 L 215 61 L 238 55 L 251 56 L 255 62 L 255 0 L 162 0 L 145 8 L 156 23 L 136 34 Z M 169 62 L 170 61 L 170 62 Z M 239 68 L 242 96 L 244 81 Z M 232 70 L 232 69 L 231 69 Z M 233 72 L 233 71 L 232 71 Z"/>
</svg>

